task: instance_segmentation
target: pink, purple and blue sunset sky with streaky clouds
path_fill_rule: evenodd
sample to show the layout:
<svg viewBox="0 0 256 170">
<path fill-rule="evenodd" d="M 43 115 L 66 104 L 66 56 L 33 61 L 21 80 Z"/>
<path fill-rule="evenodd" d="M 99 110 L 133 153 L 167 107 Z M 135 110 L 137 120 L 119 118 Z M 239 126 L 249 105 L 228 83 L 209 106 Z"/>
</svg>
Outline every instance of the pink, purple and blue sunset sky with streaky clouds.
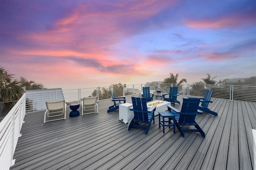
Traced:
<svg viewBox="0 0 256 170">
<path fill-rule="evenodd" d="M 256 0 L 0 0 L 0 67 L 47 88 L 256 76 Z"/>
</svg>

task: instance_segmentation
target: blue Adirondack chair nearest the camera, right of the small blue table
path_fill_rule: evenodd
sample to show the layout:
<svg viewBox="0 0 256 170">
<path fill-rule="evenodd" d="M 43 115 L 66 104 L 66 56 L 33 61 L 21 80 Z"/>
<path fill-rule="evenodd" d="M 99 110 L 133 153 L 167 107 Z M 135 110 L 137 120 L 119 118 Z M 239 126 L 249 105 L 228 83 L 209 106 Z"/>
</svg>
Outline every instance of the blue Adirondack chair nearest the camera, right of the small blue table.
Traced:
<svg viewBox="0 0 256 170">
<path fill-rule="evenodd" d="M 196 115 L 200 114 L 197 112 L 200 103 L 200 98 L 183 98 L 181 110 L 177 110 L 171 105 L 167 105 L 170 115 L 173 114 L 176 119 L 175 125 L 180 131 L 180 134 L 185 137 L 184 132 L 200 132 L 205 137 L 205 133 L 202 128 L 196 123 Z M 177 113 L 180 115 L 177 117 Z M 183 129 L 181 126 L 194 126 L 196 129 Z"/>
</svg>

